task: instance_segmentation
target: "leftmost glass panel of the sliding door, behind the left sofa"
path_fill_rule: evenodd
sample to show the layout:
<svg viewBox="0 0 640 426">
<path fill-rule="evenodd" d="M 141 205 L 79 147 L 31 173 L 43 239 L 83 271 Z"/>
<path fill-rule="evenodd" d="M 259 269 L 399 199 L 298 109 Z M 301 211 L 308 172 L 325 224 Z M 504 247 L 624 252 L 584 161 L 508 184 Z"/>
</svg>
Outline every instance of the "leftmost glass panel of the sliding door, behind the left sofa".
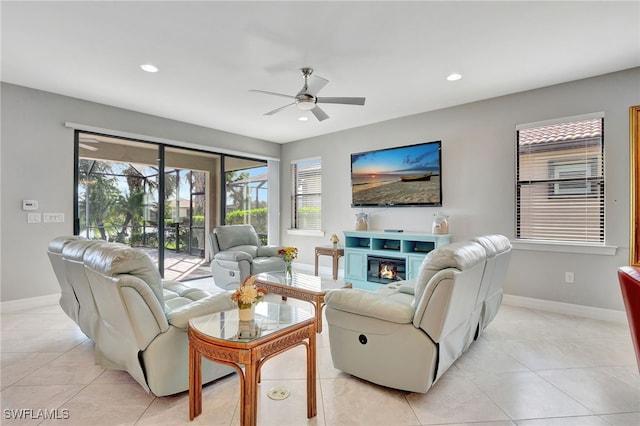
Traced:
<svg viewBox="0 0 640 426">
<path fill-rule="evenodd" d="M 78 138 L 76 234 L 144 248 L 158 258 L 158 147 Z"/>
</svg>

